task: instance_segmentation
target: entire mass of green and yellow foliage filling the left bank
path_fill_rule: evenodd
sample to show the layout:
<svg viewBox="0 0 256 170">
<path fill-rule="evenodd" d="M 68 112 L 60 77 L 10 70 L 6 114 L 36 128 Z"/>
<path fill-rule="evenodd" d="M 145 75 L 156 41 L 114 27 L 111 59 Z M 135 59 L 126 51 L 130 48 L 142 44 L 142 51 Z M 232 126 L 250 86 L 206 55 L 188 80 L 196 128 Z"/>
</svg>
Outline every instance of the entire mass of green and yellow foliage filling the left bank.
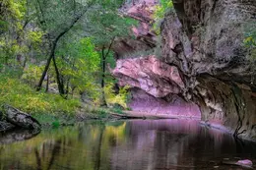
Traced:
<svg viewBox="0 0 256 170">
<path fill-rule="evenodd" d="M 114 67 L 111 41 L 131 36 L 130 28 L 138 25 L 118 12 L 122 3 L 123 0 L 3 0 L 0 8 L 0 104 L 8 103 L 37 115 L 75 113 L 81 105 L 77 98 L 82 93 L 95 105 L 99 104 L 102 91 L 100 50 L 108 54 L 105 63 Z M 65 31 L 67 33 L 63 34 Z M 72 94 L 67 100 L 32 88 L 42 74 L 41 61 L 45 62 L 56 39 L 54 59 L 60 81 L 65 92 Z M 53 65 L 47 76 L 50 89 L 58 87 Z M 115 80 L 107 70 L 104 76 L 109 103 L 126 108 L 127 88 L 114 94 L 109 86 Z M 105 115 L 104 110 L 97 112 Z"/>
</svg>

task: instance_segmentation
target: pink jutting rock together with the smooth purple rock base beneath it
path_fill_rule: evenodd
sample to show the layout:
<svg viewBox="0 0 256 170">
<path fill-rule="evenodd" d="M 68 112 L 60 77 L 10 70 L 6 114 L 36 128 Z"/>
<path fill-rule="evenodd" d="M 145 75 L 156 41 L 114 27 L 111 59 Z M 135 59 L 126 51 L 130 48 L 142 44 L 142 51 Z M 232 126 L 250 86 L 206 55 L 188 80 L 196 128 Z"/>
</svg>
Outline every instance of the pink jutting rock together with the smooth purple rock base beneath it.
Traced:
<svg viewBox="0 0 256 170">
<path fill-rule="evenodd" d="M 201 117 L 196 104 L 177 95 L 185 87 L 177 68 L 155 56 L 118 60 L 112 74 L 119 79 L 119 85 L 132 86 L 129 107 L 133 111 Z"/>
</svg>

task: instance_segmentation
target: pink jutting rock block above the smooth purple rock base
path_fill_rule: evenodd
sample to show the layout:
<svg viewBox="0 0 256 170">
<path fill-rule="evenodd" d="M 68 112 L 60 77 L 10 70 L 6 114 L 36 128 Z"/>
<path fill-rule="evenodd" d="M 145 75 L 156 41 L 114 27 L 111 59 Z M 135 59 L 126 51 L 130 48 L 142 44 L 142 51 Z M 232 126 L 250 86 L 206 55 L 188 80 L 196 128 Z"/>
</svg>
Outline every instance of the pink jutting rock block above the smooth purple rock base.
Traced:
<svg viewBox="0 0 256 170">
<path fill-rule="evenodd" d="M 177 94 L 184 87 L 177 68 L 153 55 L 118 60 L 112 75 L 119 79 L 119 85 L 139 87 L 155 97 Z"/>
</svg>

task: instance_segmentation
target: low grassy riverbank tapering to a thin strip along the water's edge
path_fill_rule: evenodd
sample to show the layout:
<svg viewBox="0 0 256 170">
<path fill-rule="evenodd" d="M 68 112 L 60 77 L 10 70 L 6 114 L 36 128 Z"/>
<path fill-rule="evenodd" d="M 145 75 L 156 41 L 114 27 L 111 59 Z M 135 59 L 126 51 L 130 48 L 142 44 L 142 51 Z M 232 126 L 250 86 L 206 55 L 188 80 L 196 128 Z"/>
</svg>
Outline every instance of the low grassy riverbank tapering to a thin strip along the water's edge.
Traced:
<svg viewBox="0 0 256 170">
<path fill-rule="evenodd" d="M 42 129 L 74 126 L 80 122 L 89 120 L 98 121 L 115 121 L 121 119 L 193 119 L 200 120 L 198 117 L 184 117 L 178 115 L 168 114 L 150 114 L 143 112 L 135 112 L 129 110 L 121 110 L 117 108 L 107 107 L 92 107 L 89 105 L 83 105 L 83 107 L 76 110 L 74 113 L 31 113 L 31 116 L 37 120 Z M 15 128 L 12 124 L 2 120 L 0 122 L 0 132 L 9 131 Z"/>
</svg>

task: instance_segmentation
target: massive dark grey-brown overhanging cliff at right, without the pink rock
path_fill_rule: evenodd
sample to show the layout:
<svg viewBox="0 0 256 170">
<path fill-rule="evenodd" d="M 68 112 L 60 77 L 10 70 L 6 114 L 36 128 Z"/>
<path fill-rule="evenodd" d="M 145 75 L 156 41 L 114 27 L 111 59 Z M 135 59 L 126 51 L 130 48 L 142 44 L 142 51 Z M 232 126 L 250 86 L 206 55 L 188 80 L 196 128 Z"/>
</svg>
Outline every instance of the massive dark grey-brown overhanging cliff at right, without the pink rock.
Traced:
<svg viewBox="0 0 256 170">
<path fill-rule="evenodd" d="M 243 46 L 243 28 L 255 22 L 254 0 L 174 1 L 176 14 L 161 26 L 163 60 L 184 78 L 184 97 L 202 120 L 235 136 L 256 139 L 256 72 Z"/>
</svg>

